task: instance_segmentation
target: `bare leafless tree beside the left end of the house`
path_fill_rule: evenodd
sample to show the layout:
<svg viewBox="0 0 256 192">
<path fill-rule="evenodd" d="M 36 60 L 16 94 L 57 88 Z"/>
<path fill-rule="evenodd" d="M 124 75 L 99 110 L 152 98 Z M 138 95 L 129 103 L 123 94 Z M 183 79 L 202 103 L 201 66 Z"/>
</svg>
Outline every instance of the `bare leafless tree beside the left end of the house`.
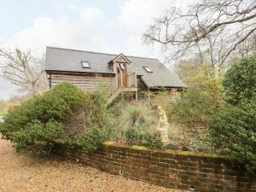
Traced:
<svg viewBox="0 0 256 192">
<path fill-rule="evenodd" d="M 9 79 L 32 95 L 41 94 L 45 89 L 44 60 L 32 57 L 31 51 L 24 53 L 20 49 L 0 49 L 0 59 L 4 79 Z"/>
</svg>

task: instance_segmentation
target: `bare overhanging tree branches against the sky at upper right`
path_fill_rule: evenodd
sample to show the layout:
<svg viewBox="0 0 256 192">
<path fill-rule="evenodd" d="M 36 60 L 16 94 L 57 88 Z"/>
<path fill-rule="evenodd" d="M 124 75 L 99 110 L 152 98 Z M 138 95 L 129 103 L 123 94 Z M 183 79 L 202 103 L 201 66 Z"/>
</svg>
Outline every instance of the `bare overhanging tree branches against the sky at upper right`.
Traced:
<svg viewBox="0 0 256 192">
<path fill-rule="evenodd" d="M 219 69 L 255 34 L 255 0 L 203 0 L 190 5 L 186 13 L 168 9 L 148 26 L 143 42 L 160 44 L 172 60 L 199 53 L 202 61 Z"/>
</svg>

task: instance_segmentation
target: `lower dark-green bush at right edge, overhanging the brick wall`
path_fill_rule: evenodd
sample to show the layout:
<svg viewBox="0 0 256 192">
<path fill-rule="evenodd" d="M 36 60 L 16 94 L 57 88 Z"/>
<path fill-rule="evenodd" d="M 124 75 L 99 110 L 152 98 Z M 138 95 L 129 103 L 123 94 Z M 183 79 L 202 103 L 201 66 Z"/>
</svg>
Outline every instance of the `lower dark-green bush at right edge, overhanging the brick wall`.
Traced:
<svg viewBox="0 0 256 192">
<path fill-rule="evenodd" d="M 225 154 L 231 154 L 248 169 L 256 170 L 256 99 L 241 105 L 227 104 L 212 116 L 212 143 Z"/>
</svg>

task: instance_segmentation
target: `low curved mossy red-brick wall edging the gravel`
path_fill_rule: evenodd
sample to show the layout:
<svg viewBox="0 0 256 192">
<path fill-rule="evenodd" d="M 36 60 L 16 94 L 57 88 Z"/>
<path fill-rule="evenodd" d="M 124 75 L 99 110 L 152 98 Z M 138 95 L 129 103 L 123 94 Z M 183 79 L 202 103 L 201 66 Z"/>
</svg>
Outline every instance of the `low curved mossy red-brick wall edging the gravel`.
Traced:
<svg viewBox="0 0 256 192">
<path fill-rule="evenodd" d="M 148 183 L 194 191 L 256 191 L 256 174 L 228 158 L 174 150 L 152 150 L 119 143 L 104 143 L 88 154 L 59 149 L 58 154 L 104 172 Z"/>
</svg>

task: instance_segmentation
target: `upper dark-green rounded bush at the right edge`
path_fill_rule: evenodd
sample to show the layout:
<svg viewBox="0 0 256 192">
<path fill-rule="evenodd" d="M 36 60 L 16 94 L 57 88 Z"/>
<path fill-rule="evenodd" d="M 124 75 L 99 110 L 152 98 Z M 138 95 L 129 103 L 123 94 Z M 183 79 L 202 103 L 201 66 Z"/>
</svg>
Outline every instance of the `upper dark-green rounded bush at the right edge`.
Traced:
<svg viewBox="0 0 256 192">
<path fill-rule="evenodd" d="M 242 59 L 224 76 L 225 100 L 236 105 L 256 96 L 256 57 Z"/>
</svg>

